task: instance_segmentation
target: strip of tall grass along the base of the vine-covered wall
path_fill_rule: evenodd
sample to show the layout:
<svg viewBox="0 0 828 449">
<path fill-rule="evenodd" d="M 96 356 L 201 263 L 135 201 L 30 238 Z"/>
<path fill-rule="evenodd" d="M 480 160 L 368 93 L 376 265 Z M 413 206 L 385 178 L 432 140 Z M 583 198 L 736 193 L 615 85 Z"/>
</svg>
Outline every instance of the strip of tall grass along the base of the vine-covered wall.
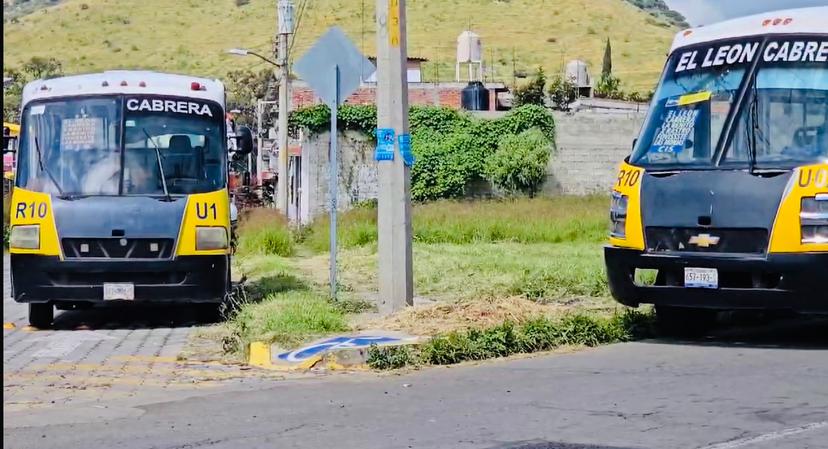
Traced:
<svg viewBox="0 0 828 449">
<path fill-rule="evenodd" d="M 607 235 L 608 207 L 604 195 L 418 204 L 412 212 L 414 241 L 460 245 L 601 242 Z M 337 230 L 341 248 L 377 241 L 376 208 L 357 208 L 341 217 Z M 321 218 L 306 231 L 305 244 L 326 252 L 329 233 L 327 218 Z"/>
</svg>

